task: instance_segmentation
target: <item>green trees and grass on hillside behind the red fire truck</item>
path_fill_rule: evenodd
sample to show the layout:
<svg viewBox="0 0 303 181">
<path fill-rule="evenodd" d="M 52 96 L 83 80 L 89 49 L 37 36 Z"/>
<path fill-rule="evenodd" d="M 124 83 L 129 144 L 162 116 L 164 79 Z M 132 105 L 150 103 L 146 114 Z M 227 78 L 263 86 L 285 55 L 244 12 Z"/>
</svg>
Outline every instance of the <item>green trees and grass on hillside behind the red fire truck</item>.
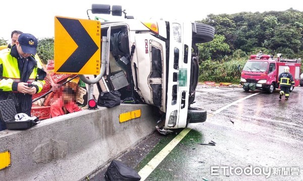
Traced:
<svg viewBox="0 0 303 181">
<path fill-rule="evenodd" d="M 239 83 L 240 70 L 251 54 L 303 55 L 303 12 L 293 9 L 264 13 L 213 15 L 197 21 L 215 27 L 212 42 L 198 45 L 199 81 Z"/>
</svg>

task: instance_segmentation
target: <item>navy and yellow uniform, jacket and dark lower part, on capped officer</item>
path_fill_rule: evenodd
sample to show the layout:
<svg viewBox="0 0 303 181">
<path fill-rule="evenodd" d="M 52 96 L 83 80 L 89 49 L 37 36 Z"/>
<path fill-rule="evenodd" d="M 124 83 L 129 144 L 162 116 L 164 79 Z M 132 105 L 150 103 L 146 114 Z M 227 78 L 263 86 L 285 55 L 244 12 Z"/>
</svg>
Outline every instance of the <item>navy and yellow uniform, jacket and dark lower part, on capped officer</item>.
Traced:
<svg viewBox="0 0 303 181">
<path fill-rule="evenodd" d="M 32 107 L 32 95 L 18 93 L 18 83 L 31 83 L 39 93 L 45 76 L 41 62 L 34 56 L 20 57 L 16 45 L 0 52 L 0 100 L 13 99 L 17 113 L 30 116 Z"/>
</svg>

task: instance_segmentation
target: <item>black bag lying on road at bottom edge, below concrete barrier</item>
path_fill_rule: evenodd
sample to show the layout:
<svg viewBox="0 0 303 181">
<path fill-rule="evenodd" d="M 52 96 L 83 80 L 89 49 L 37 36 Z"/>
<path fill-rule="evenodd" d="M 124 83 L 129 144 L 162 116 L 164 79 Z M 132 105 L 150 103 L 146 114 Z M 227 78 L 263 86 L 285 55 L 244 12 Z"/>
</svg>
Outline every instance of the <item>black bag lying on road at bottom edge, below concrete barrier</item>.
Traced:
<svg viewBox="0 0 303 181">
<path fill-rule="evenodd" d="M 124 163 L 113 160 L 104 175 L 107 181 L 140 180 L 140 175 Z"/>
</svg>

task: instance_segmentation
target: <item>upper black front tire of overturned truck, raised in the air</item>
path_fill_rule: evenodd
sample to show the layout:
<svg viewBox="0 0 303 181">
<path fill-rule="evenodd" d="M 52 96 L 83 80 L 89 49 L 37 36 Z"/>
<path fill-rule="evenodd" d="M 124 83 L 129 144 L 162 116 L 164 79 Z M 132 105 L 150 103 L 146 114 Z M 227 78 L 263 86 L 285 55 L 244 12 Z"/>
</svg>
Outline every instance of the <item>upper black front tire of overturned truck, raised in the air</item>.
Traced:
<svg viewBox="0 0 303 181">
<path fill-rule="evenodd" d="M 192 42 L 206 43 L 213 41 L 215 28 L 203 23 L 192 23 Z"/>
</svg>

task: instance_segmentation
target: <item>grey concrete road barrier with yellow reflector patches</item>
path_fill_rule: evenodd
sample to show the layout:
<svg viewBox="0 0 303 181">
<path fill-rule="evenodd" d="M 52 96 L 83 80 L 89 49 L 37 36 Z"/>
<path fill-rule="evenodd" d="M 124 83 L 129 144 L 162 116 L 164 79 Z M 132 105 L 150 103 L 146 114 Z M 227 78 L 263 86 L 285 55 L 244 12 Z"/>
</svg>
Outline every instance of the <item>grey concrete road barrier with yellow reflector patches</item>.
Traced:
<svg viewBox="0 0 303 181">
<path fill-rule="evenodd" d="M 121 113 L 141 117 L 119 123 Z M 41 121 L 24 131 L 0 132 L 0 152 L 10 151 L 11 166 L 0 180 L 82 180 L 155 131 L 149 105 L 99 107 Z"/>
</svg>

